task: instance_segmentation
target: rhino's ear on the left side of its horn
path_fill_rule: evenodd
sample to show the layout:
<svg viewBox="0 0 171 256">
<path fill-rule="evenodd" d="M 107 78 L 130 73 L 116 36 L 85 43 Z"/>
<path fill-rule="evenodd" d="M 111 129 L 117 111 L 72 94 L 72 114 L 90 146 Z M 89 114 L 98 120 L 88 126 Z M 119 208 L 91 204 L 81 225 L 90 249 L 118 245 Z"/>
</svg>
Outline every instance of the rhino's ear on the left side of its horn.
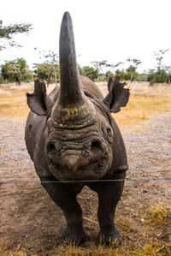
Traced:
<svg viewBox="0 0 171 256">
<path fill-rule="evenodd" d="M 52 101 L 46 94 L 46 86 L 43 81 L 34 81 L 34 92 L 27 93 L 27 104 L 29 108 L 38 116 L 46 116 L 48 110 L 53 106 Z"/>
</svg>

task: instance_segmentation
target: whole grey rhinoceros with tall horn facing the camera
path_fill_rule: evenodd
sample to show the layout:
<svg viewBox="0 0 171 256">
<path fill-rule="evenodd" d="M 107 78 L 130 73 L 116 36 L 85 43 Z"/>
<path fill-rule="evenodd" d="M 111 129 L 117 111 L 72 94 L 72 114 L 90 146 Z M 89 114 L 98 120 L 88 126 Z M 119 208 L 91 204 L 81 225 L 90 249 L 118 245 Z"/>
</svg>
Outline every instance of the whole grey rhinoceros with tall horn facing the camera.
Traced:
<svg viewBox="0 0 171 256">
<path fill-rule="evenodd" d="M 62 18 L 59 56 L 60 86 L 48 95 L 44 81 L 37 79 L 34 92 L 27 93 L 27 151 L 42 186 L 66 218 L 65 241 L 86 240 L 76 197 L 88 186 L 99 201 L 97 241 L 121 243 L 114 217 L 128 169 L 127 153 L 110 112 L 127 104 L 129 92 L 117 77 L 109 80 L 109 94 L 103 98 L 93 81 L 80 76 L 68 12 Z"/>
</svg>

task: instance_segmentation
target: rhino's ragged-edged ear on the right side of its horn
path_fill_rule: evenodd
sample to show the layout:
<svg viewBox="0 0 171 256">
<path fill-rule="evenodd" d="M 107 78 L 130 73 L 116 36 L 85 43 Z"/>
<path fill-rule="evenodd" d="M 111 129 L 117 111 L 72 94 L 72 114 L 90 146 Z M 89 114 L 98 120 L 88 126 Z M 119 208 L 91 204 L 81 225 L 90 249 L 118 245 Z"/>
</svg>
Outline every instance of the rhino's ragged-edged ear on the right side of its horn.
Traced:
<svg viewBox="0 0 171 256">
<path fill-rule="evenodd" d="M 129 98 L 129 89 L 125 89 L 126 83 L 120 82 L 120 76 L 110 78 L 108 82 L 109 93 L 103 102 L 109 107 L 110 112 L 117 113 L 121 107 L 125 107 Z"/>
</svg>

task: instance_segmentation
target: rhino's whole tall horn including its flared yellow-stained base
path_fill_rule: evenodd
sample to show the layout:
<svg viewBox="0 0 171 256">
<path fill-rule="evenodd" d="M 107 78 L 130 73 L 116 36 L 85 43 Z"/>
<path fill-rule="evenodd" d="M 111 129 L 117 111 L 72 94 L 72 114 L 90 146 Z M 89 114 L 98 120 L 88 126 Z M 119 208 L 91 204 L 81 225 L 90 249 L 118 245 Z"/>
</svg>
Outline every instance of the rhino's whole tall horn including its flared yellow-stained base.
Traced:
<svg viewBox="0 0 171 256">
<path fill-rule="evenodd" d="M 59 99 L 52 110 L 52 117 L 58 123 L 81 124 L 82 120 L 90 118 L 94 107 L 85 97 L 81 85 L 76 62 L 73 24 L 68 12 L 62 18 L 59 52 L 61 86 Z"/>
</svg>

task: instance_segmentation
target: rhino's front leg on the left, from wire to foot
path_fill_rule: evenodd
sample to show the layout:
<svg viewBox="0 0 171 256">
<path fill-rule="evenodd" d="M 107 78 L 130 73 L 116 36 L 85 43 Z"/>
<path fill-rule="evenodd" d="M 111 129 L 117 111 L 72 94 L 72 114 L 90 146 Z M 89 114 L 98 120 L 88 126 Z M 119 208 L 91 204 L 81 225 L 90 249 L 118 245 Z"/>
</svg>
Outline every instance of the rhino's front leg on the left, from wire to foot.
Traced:
<svg viewBox="0 0 171 256">
<path fill-rule="evenodd" d="M 48 179 L 50 181 L 50 179 Z M 54 182 L 55 179 L 51 179 Z M 66 185 L 62 183 L 51 183 L 41 179 L 43 187 L 49 193 L 62 211 L 67 221 L 67 228 L 62 232 L 62 238 L 72 244 L 79 244 L 85 241 L 86 235 L 83 229 L 82 210 L 76 200 L 77 193 L 83 186 Z"/>
</svg>

